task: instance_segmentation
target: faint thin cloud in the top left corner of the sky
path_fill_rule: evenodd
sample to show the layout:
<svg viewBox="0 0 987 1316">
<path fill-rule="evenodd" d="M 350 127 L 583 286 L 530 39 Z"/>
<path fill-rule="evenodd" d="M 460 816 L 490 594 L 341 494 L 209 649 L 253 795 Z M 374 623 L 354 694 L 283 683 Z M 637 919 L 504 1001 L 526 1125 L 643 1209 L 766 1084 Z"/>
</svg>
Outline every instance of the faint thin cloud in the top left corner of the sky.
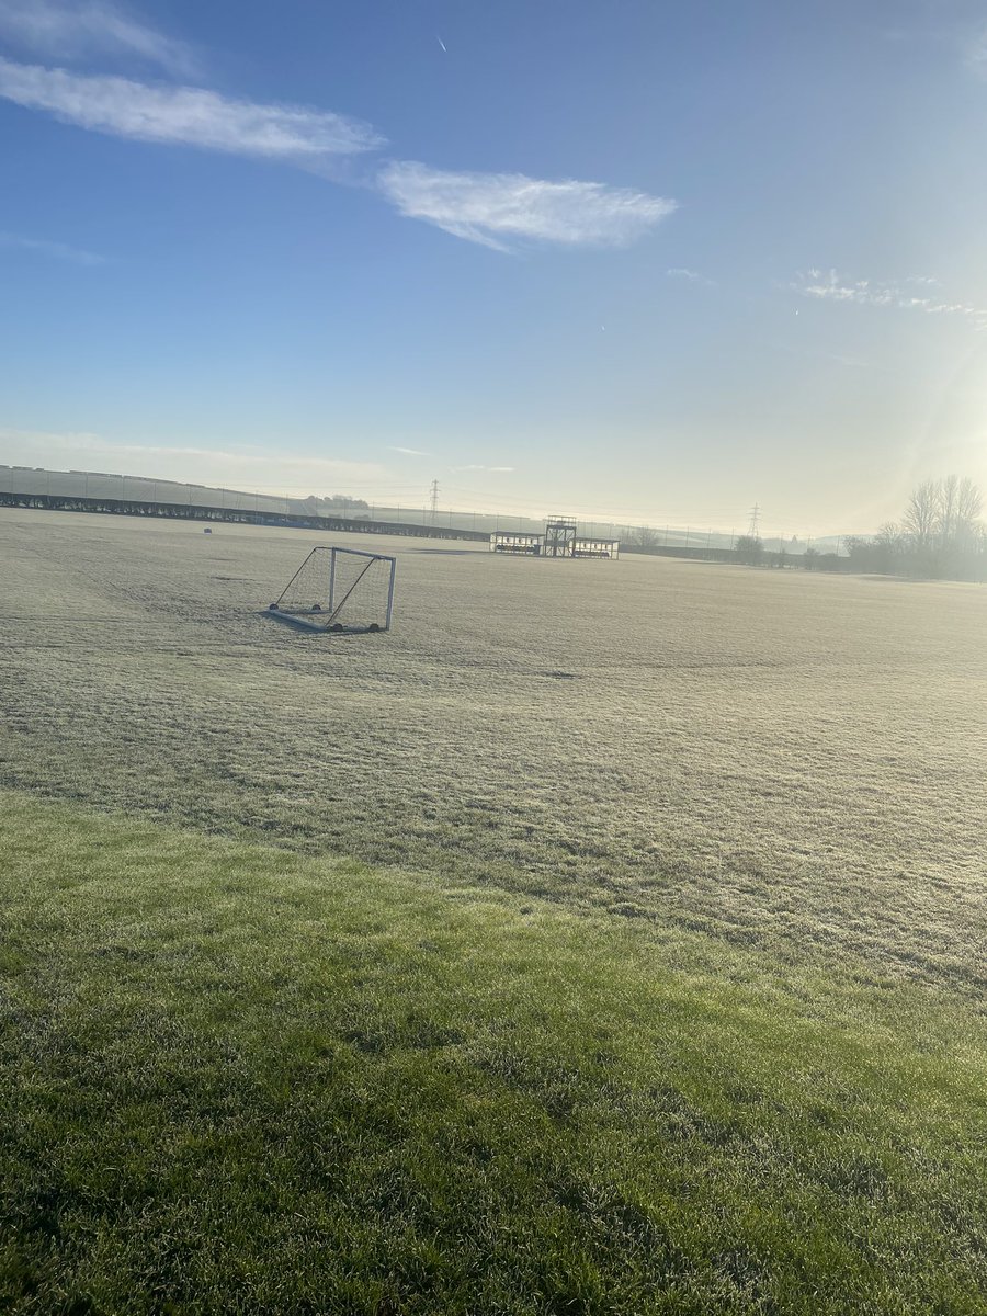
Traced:
<svg viewBox="0 0 987 1316">
<path fill-rule="evenodd" d="M 0 0 L 0 36 L 46 59 L 129 57 L 179 78 L 195 76 L 193 51 L 112 0 Z"/>
</svg>

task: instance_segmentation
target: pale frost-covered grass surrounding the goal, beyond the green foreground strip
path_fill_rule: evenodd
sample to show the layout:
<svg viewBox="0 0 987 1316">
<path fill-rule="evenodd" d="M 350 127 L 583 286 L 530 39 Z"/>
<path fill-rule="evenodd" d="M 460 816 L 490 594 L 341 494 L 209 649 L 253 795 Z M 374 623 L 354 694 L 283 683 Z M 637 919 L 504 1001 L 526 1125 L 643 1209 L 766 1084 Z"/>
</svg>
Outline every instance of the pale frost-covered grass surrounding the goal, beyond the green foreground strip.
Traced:
<svg viewBox="0 0 987 1316">
<path fill-rule="evenodd" d="M 983 588 L 343 538 L 391 636 L 254 613 L 317 536 L 0 512 L 0 784 L 983 992 Z"/>
</svg>

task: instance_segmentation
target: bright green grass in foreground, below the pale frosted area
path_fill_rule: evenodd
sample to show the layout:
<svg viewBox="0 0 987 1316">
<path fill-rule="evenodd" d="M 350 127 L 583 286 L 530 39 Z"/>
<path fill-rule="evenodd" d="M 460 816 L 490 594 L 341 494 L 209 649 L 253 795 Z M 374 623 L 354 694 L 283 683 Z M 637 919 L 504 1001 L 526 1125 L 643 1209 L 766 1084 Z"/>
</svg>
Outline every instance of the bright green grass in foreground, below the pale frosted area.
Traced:
<svg viewBox="0 0 987 1316">
<path fill-rule="evenodd" d="M 984 1312 L 969 1004 L 0 819 L 0 1309 Z"/>
</svg>

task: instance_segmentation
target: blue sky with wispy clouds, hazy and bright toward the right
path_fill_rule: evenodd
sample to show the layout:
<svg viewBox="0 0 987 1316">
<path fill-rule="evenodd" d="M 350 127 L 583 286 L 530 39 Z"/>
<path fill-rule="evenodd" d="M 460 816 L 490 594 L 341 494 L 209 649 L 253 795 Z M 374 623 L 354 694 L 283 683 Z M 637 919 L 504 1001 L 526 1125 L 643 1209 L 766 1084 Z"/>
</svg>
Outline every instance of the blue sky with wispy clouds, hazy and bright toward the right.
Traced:
<svg viewBox="0 0 987 1316">
<path fill-rule="evenodd" d="M 987 13 L 0 0 L 0 461 L 867 530 L 987 486 Z"/>
</svg>

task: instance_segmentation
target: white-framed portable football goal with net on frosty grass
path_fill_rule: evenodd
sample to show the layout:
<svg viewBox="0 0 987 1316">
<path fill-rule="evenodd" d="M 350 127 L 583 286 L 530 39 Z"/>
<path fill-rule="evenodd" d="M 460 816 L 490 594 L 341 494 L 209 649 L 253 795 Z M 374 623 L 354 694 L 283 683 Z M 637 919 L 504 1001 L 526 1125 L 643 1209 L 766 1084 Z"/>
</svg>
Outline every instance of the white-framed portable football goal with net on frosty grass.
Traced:
<svg viewBox="0 0 987 1316">
<path fill-rule="evenodd" d="M 359 549 L 312 549 L 267 612 L 304 630 L 390 630 L 395 565 Z"/>
</svg>

